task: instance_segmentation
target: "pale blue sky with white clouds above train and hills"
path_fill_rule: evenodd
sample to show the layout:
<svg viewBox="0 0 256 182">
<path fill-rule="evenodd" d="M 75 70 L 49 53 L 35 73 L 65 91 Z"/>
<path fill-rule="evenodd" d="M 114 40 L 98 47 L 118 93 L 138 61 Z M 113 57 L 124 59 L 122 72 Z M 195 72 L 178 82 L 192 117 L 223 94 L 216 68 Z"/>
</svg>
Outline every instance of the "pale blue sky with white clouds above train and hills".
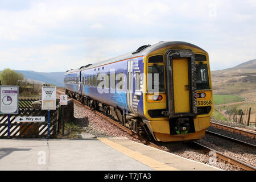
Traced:
<svg viewBox="0 0 256 182">
<path fill-rule="evenodd" d="M 203 48 L 212 70 L 256 59 L 256 1 L 0 0 L 0 70 L 63 72 L 162 40 Z"/>
</svg>

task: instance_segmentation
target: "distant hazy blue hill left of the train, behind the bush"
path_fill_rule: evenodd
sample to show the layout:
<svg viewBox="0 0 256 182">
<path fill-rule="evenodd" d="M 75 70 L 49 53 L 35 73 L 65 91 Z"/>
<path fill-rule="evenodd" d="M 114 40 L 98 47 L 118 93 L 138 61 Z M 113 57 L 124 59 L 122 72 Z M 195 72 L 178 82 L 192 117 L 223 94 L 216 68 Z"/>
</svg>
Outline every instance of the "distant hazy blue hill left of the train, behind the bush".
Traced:
<svg viewBox="0 0 256 182">
<path fill-rule="evenodd" d="M 43 84 L 43 83 L 54 84 L 56 86 L 63 87 L 64 72 L 44 73 L 44 72 L 23 71 L 23 70 L 15 70 L 15 72 L 22 73 L 24 77 L 27 78 L 27 80 L 30 82 L 35 82 L 39 84 Z"/>
</svg>

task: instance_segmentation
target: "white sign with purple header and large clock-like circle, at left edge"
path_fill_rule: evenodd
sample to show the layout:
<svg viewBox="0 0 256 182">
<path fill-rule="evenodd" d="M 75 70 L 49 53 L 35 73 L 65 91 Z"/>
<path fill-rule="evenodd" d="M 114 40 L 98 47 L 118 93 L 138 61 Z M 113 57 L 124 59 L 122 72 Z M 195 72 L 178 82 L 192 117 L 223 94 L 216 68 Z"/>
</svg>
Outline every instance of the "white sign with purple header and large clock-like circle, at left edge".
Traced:
<svg viewBox="0 0 256 182">
<path fill-rule="evenodd" d="M 0 114 L 19 114 L 19 86 L 0 86 Z"/>
</svg>

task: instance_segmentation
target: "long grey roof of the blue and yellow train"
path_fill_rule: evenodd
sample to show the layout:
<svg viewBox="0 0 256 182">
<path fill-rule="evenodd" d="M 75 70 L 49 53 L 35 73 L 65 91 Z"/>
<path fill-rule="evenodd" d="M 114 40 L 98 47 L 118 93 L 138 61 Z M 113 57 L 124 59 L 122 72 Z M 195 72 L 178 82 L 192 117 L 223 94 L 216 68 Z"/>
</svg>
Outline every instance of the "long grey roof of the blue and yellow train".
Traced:
<svg viewBox="0 0 256 182">
<path fill-rule="evenodd" d="M 168 42 L 168 41 L 161 41 L 159 43 L 153 44 L 153 45 L 145 45 L 145 46 L 141 46 L 139 47 L 136 51 L 133 52 L 129 52 L 126 53 L 124 55 L 121 56 L 117 56 L 117 57 L 113 57 L 111 59 L 108 60 L 104 60 L 104 61 L 100 61 L 98 63 L 94 63 L 94 64 L 89 64 L 86 65 L 84 67 L 80 67 L 78 69 L 73 69 L 73 70 L 69 70 L 66 73 L 73 73 L 73 72 L 77 72 L 79 70 L 85 70 L 85 69 L 90 69 L 90 68 L 94 68 L 94 67 L 99 67 L 105 64 L 110 64 L 110 63 L 114 63 L 115 61 L 121 61 L 121 60 L 126 60 L 126 59 L 130 59 L 131 57 L 139 57 L 139 56 L 144 56 L 147 55 L 150 52 L 156 51 L 157 49 L 163 48 L 163 47 L 167 47 L 167 46 L 174 46 L 174 45 L 184 45 L 184 46 L 190 46 L 190 47 L 195 47 L 197 49 L 201 49 L 202 51 L 204 51 L 204 49 L 195 46 L 194 44 L 191 43 L 187 43 L 187 42 L 180 42 L 180 41 L 173 41 L 173 42 Z M 206 51 L 205 51 L 206 52 Z"/>
</svg>

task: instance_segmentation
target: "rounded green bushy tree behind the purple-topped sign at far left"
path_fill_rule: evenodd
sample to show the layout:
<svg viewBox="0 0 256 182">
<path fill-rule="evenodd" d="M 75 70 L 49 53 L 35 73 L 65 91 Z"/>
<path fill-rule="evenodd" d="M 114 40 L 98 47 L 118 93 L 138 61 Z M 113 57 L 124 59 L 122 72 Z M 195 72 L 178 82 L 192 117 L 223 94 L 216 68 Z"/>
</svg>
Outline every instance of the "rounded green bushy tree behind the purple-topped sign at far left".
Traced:
<svg viewBox="0 0 256 182">
<path fill-rule="evenodd" d="M 4 69 L 0 73 L 0 80 L 2 85 L 23 85 L 24 76 L 22 73 L 17 73 L 9 68 Z"/>
</svg>

